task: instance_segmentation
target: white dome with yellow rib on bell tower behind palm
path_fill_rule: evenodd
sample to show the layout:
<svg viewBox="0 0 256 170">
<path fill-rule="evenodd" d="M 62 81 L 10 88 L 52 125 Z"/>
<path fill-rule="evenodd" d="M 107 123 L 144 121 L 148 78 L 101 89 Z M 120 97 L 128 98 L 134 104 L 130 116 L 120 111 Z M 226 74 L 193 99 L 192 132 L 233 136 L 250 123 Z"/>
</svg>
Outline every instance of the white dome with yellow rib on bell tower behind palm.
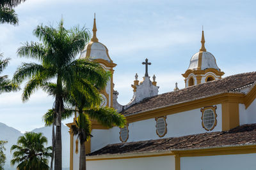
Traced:
<svg viewBox="0 0 256 170">
<path fill-rule="evenodd" d="M 111 62 L 108 55 L 108 48 L 99 42 L 91 41 L 84 47 L 84 50 L 81 52 L 80 59 L 85 57 L 90 57 L 92 59 L 104 59 Z"/>
</svg>

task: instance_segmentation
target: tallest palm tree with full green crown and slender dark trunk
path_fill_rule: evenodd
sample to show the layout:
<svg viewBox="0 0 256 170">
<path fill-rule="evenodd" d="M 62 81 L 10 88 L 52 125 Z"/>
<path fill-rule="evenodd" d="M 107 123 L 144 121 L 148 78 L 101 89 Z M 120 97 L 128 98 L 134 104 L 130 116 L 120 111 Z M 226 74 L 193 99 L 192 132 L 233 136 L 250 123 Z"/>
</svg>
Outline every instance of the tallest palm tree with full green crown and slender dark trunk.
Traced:
<svg viewBox="0 0 256 170">
<path fill-rule="evenodd" d="M 42 43 L 25 43 L 17 53 L 20 57 L 29 57 L 40 62 L 24 63 L 17 68 L 13 80 L 17 83 L 29 79 L 24 87 L 22 101 L 28 101 L 33 92 L 51 84 L 56 80 L 54 89 L 54 125 L 56 125 L 56 142 L 54 145 L 54 169 L 61 170 L 61 114 L 64 111 L 63 87 L 70 91 L 80 88 L 90 94 L 93 99 L 97 87 L 104 87 L 110 73 L 104 71 L 99 64 L 86 59 L 76 59 L 90 39 L 90 33 L 85 29 L 74 27 L 65 29 L 63 20 L 55 29 L 52 26 L 38 25 L 33 32 Z M 82 88 L 83 87 L 83 88 Z M 94 97 L 95 98 L 95 97 Z"/>
</svg>

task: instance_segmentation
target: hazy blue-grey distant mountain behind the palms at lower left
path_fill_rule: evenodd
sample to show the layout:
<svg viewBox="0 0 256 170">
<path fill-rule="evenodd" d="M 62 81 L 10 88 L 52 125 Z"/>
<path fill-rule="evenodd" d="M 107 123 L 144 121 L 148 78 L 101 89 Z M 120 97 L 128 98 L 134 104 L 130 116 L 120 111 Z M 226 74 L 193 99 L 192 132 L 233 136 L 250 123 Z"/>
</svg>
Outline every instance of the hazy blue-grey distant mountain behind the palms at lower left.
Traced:
<svg viewBox="0 0 256 170">
<path fill-rule="evenodd" d="M 62 138 L 62 166 L 63 169 L 69 169 L 69 146 L 70 146 L 70 137 L 68 133 L 68 127 L 64 124 L 61 125 L 61 138 Z M 42 134 L 47 138 L 48 145 L 52 145 L 52 127 L 40 127 L 34 129 L 32 132 L 42 132 Z M 9 127 L 6 124 L 0 123 L 0 140 L 8 141 L 6 143 L 4 152 L 6 155 L 6 163 L 4 164 L 5 170 L 15 170 L 15 167 L 10 166 L 10 160 L 12 159 L 12 153 L 10 153 L 10 148 L 12 145 L 17 143 L 17 139 L 19 136 L 23 134 L 14 129 L 13 127 Z"/>
</svg>

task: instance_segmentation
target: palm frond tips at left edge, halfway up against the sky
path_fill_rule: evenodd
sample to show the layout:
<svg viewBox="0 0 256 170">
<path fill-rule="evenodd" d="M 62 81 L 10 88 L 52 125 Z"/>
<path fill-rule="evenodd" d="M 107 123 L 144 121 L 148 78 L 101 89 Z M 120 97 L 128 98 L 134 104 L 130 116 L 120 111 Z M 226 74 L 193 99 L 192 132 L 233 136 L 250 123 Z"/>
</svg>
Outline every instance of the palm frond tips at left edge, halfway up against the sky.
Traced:
<svg viewBox="0 0 256 170">
<path fill-rule="evenodd" d="M 10 58 L 3 59 L 3 53 L 0 53 L 0 73 L 8 66 L 9 61 Z M 7 75 L 0 76 L 0 94 L 16 90 L 19 90 L 19 86 L 9 80 Z"/>
</svg>

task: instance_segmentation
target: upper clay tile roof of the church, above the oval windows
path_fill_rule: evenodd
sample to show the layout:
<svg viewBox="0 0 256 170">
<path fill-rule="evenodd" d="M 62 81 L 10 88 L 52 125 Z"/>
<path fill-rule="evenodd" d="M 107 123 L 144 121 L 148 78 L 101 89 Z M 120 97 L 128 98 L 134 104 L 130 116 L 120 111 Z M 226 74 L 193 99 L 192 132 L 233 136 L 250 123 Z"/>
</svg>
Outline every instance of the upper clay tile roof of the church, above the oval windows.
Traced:
<svg viewBox="0 0 256 170">
<path fill-rule="evenodd" d="M 256 81 L 256 72 L 227 76 L 221 80 L 209 81 L 194 85 L 176 92 L 168 92 L 144 99 L 121 111 L 124 115 L 131 115 L 141 111 L 152 110 L 171 104 L 192 101 L 201 97 L 214 96 L 223 92 L 239 92 L 237 89 L 247 87 Z"/>
</svg>

